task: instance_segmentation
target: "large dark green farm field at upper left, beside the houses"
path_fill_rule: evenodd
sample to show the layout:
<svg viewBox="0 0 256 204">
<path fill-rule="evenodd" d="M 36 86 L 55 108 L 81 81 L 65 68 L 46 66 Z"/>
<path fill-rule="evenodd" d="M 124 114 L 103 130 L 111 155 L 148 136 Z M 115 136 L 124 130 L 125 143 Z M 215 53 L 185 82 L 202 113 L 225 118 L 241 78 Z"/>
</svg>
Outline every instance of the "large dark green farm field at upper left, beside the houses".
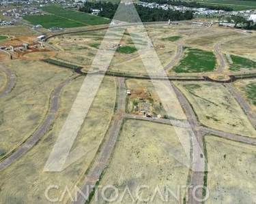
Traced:
<svg viewBox="0 0 256 204">
<path fill-rule="evenodd" d="M 41 24 L 42 27 L 49 29 L 51 27 L 72 28 L 84 27 L 87 25 L 108 24 L 109 19 L 100 16 L 94 16 L 83 12 L 78 12 L 70 9 L 63 9 L 55 5 L 47 5 L 40 7 L 46 15 L 25 16 L 32 24 Z"/>
</svg>

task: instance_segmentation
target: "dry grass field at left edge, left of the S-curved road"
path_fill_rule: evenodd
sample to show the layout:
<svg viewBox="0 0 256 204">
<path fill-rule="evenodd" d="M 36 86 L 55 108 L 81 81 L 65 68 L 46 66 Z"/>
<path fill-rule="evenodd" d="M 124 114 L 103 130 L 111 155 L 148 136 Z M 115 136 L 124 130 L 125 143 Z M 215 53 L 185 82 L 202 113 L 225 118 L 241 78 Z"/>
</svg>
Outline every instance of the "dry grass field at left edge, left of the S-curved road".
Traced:
<svg viewBox="0 0 256 204">
<path fill-rule="evenodd" d="M 36 61 L 8 61 L 17 77 L 12 92 L 0 101 L 0 157 L 17 148 L 38 128 L 47 113 L 51 92 L 72 74 Z"/>
</svg>

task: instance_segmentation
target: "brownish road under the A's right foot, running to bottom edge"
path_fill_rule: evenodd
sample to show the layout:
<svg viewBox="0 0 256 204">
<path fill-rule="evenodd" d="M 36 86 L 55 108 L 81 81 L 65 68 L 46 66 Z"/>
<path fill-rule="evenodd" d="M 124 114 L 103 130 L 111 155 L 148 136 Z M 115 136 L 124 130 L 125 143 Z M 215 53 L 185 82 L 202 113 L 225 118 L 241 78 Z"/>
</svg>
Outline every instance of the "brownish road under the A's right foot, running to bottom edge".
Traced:
<svg viewBox="0 0 256 204">
<path fill-rule="evenodd" d="M 180 90 L 173 86 L 173 90 L 175 91 L 175 94 L 177 95 L 177 99 L 179 99 L 182 107 L 184 108 L 186 112 L 186 116 L 188 118 L 188 122 L 191 126 L 191 129 L 193 130 L 193 133 L 195 134 L 193 137 L 193 170 L 191 171 L 191 177 L 190 177 L 190 186 L 203 186 L 203 175 L 204 175 L 204 158 L 201 158 L 201 155 L 203 154 L 203 136 L 199 129 L 197 128 L 197 117 L 195 116 L 192 107 L 190 107 L 190 104 L 188 103 L 186 97 L 180 92 Z M 197 140 L 197 142 L 195 142 Z M 188 203 L 200 203 L 193 199 L 193 188 L 188 189 Z M 202 190 L 201 188 L 198 188 L 198 190 L 195 192 L 197 195 L 197 198 L 201 198 Z"/>
</svg>

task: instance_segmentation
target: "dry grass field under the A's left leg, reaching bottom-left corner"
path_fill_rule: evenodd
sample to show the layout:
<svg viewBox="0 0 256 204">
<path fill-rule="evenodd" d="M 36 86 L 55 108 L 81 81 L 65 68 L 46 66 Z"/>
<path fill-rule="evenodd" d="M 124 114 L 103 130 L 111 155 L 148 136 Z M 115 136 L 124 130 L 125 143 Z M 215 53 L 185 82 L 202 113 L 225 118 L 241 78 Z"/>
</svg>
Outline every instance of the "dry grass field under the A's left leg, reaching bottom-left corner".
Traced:
<svg viewBox="0 0 256 204">
<path fill-rule="evenodd" d="M 77 184 L 84 176 L 108 129 L 113 114 L 116 82 L 111 78 L 104 78 L 73 144 L 73 149 L 82 147 L 85 155 L 61 172 L 42 172 L 84 79 L 82 76 L 76 78 L 61 91 L 60 109 L 51 130 L 25 156 L 8 169 L 1 171 L 0 203 L 51 203 L 44 197 L 44 191 L 48 185 L 59 186 L 59 190 L 49 191 L 49 197 L 60 198 L 65 186 L 72 191 L 74 184 Z M 64 197 L 60 203 L 68 203 L 67 199 Z"/>
</svg>

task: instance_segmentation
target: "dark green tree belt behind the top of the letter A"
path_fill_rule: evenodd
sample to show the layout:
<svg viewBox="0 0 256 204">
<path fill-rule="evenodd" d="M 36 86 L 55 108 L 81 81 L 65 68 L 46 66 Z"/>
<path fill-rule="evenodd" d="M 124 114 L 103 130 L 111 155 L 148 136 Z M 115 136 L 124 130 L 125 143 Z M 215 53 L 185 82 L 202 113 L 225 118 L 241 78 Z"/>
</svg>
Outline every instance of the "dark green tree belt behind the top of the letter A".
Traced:
<svg viewBox="0 0 256 204">
<path fill-rule="evenodd" d="M 142 22 L 167 21 L 167 20 L 191 20 L 193 12 L 179 12 L 171 10 L 162 10 L 158 8 L 143 7 L 141 5 L 124 4 L 124 3 L 104 3 L 104 2 L 86 2 L 79 10 L 81 12 L 91 13 L 92 10 L 101 10 L 98 16 L 112 19 L 117 7 L 119 6 L 118 14 L 115 16 L 116 20 L 123 20 L 127 22 L 137 22 L 138 16 L 134 12 L 134 6 L 141 18 Z"/>
</svg>

